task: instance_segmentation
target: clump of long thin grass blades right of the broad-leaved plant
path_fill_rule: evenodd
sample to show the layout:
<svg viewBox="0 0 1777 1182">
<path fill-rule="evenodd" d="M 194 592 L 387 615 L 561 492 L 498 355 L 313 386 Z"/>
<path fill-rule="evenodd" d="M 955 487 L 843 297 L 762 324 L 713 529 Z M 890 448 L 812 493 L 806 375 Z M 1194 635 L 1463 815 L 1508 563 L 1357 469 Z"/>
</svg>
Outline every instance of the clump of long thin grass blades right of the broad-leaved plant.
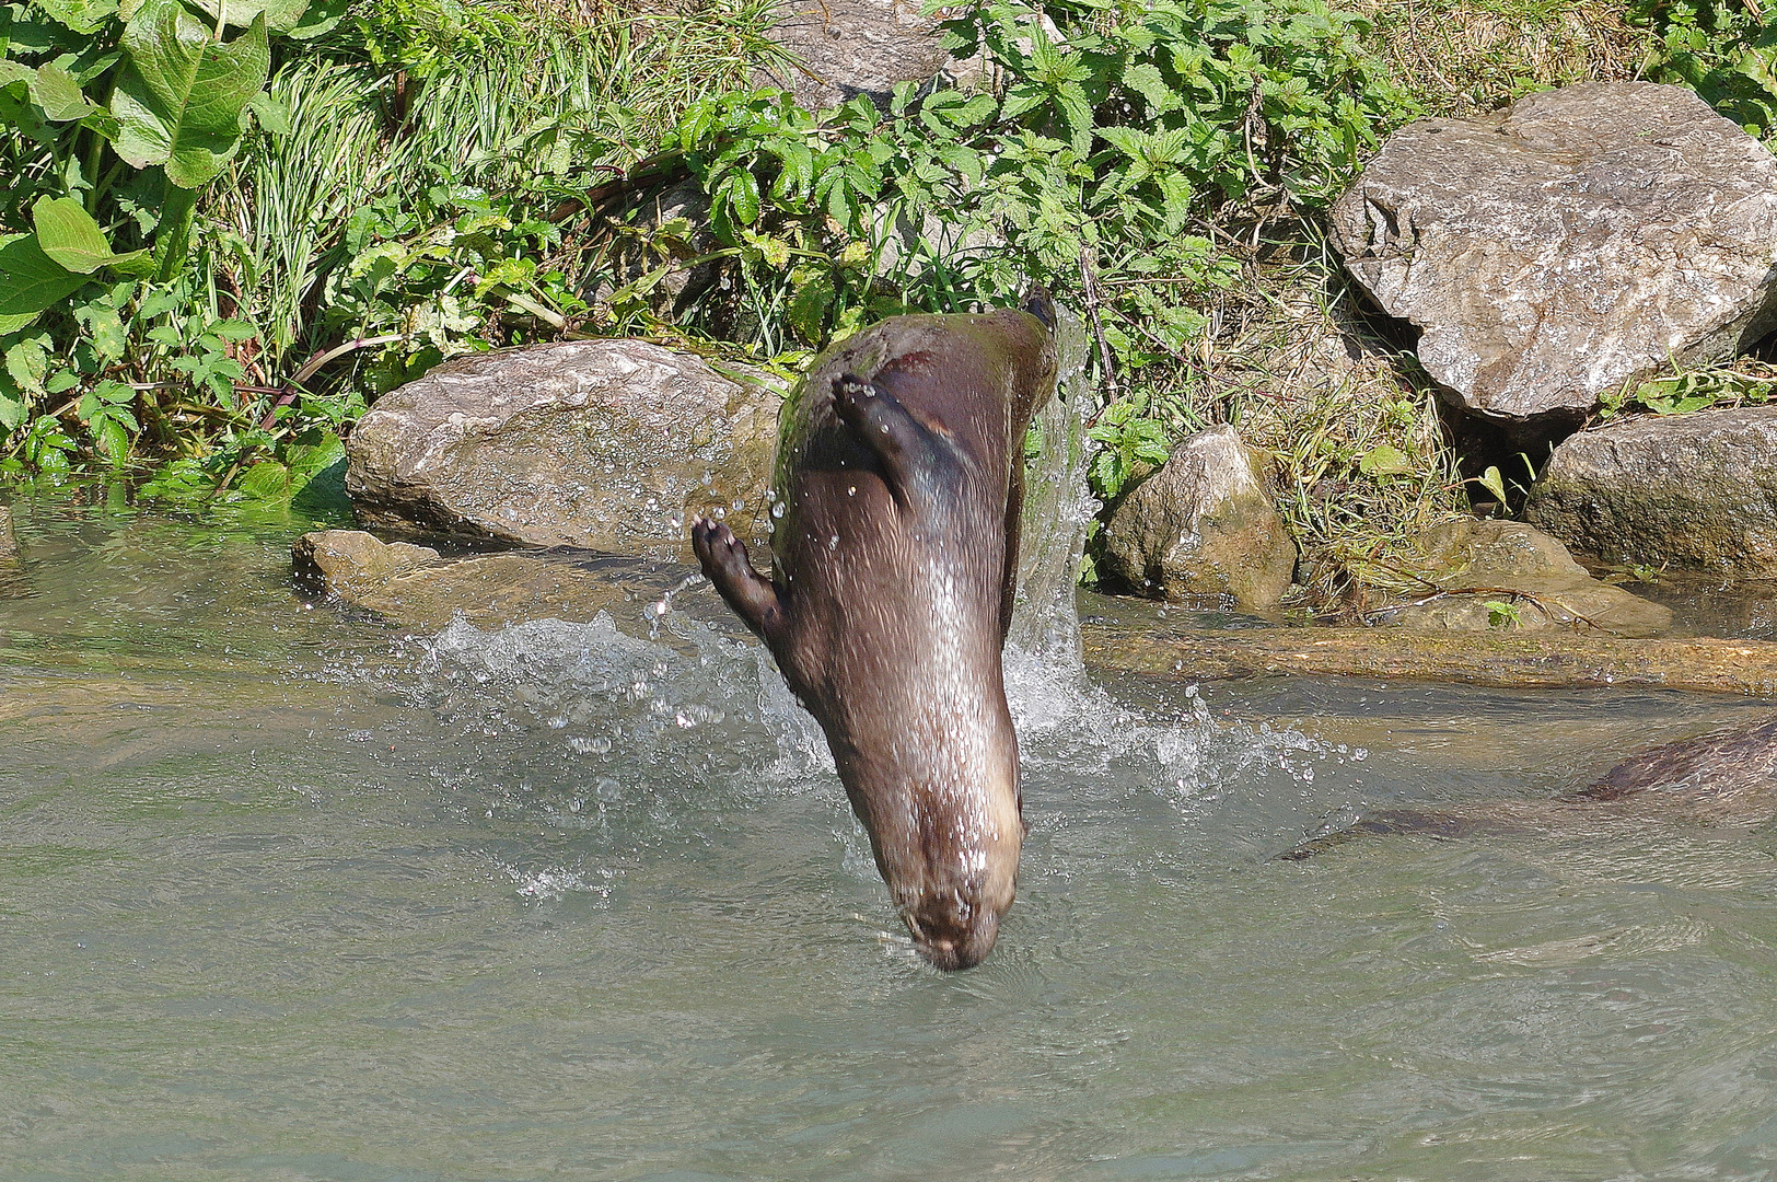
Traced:
<svg viewBox="0 0 1777 1182">
<path fill-rule="evenodd" d="M 592 265 L 572 229 L 551 229 L 553 210 L 652 153 L 702 94 L 745 87 L 768 53 L 775 0 L 585 11 L 498 0 L 474 5 L 462 36 L 432 27 L 446 23 L 446 4 L 434 4 L 439 21 L 410 25 L 414 43 L 405 48 L 368 53 L 368 41 L 354 36 L 387 32 L 377 21 L 426 0 L 373 11 L 357 34 L 341 32 L 277 71 L 270 89 L 290 112 L 288 132 L 258 133 L 208 194 L 210 286 L 220 290 L 222 311 L 259 329 L 252 363 L 259 382 L 341 334 L 371 331 L 364 307 L 350 307 L 371 297 L 345 290 L 350 256 L 366 242 L 405 240 L 412 256 L 430 249 L 437 265 L 448 263 L 444 276 L 455 274 L 457 297 L 474 293 L 480 274 L 462 268 L 476 260 L 451 261 L 453 240 L 469 233 L 464 199 L 492 210 L 474 235 L 517 235 L 528 224 L 531 252 L 537 242 L 549 244 L 540 268 Z M 560 283 L 572 292 L 579 276 Z M 405 302 L 396 309 L 402 323 L 375 331 L 410 332 L 416 309 L 419 318 L 450 318 L 448 309 L 419 309 L 416 295 L 439 293 L 412 284 L 373 293 Z M 439 334 L 464 331 L 444 325 Z"/>
</svg>

